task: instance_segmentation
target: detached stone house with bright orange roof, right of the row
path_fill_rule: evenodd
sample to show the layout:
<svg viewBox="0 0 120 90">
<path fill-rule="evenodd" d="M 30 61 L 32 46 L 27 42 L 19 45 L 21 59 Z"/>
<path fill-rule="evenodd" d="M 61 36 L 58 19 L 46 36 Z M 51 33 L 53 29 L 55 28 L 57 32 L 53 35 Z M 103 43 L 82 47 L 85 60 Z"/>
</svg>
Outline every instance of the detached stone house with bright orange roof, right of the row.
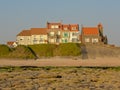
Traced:
<svg viewBox="0 0 120 90">
<path fill-rule="evenodd" d="M 82 27 L 81 30 L 81 41 L 82 43 L 104 43 L 105 37 L 103 35 L 103 27 L 98 24 L 98 27 Z"/>
</svg>

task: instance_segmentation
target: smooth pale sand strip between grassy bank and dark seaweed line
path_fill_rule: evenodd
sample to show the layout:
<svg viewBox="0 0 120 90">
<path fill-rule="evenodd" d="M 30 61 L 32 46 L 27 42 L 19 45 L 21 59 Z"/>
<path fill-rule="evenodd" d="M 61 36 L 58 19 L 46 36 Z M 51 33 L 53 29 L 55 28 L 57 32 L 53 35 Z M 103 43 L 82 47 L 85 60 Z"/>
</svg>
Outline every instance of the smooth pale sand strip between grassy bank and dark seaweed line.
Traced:
<svg viewBox="0 0 120 90">
<path fill-rule="evenodd" d="M 0 59 L 0 66 L 120 66 L 120 58 L 65 59 L 50 58 L 38 60 Z"/>
</svg>

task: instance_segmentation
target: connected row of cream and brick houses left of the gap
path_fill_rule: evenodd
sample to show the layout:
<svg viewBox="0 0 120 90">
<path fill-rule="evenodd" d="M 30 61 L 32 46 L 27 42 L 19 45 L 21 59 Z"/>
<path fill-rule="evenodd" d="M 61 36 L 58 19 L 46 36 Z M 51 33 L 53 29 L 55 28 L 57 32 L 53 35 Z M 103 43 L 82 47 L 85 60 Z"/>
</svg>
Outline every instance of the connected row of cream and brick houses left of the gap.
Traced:
<svg viewBox="0 0 120 90">
<path fill-rule="evenodd" d="M 19 45 L 78 43 L 79 25 L 47 22 L 46 28 L 31 28 L 23 30 L 17 35 Z"/>
</svg>

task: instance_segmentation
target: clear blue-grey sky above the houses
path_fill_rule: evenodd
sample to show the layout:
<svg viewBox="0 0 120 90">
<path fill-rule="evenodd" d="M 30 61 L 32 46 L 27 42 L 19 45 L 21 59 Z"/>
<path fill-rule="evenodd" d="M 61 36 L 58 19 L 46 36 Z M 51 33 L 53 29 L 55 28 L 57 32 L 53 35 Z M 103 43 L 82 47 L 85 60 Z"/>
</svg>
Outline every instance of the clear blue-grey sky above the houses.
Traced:
<svg viewBox="0 0 120 90">
<path fill-rule="evenodd" d="M 80 26 L 102 23 L 110 44 L 120 46 L 120 0 L 0 0 L 0 43 L 46 22 Z"/>
</svg>

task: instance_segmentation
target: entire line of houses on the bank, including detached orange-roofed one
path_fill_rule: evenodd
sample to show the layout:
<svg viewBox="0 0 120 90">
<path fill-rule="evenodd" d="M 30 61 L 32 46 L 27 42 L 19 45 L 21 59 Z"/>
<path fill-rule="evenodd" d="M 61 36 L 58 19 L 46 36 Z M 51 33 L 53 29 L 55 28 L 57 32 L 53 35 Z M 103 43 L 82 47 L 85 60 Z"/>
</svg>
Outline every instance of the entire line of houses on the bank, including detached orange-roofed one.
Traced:
<svg viewBox="0 0 120 90">
<path fill-rule="evenodd" d="M 62 24 L 47 22 L 46 28 L 31 28 L 23 30 L 17 35 L 18 45 L 59 44 L 59 43 L 104 43 L 107 37 L 103 35 L 103 26 L 82 27 L 81 33 L 78 24 Z"/>
</svg>

